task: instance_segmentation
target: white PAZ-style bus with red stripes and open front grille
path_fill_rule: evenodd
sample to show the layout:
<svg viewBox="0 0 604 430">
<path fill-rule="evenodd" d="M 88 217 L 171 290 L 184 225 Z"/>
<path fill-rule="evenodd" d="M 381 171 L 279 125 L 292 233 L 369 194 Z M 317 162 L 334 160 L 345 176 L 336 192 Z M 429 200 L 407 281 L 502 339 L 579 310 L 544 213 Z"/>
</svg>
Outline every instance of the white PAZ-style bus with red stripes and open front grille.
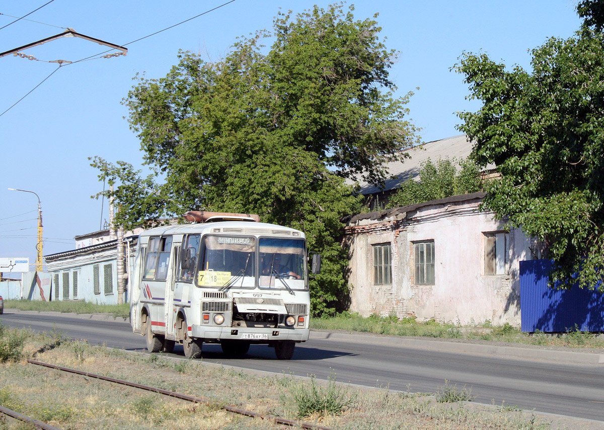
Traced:
<svg viewBox="0 0 604 430">
<path fill-rule="evenodd" d="M 203 342 L 229 356 L 268 344 L 289 360 L 309 338 L 310 295 L 304 233 L 249 214 L 190 211 L 187 225 L 138 237 L 130 277 L 130 324 L 151 352 L 182 344 L 187 358 Z M 312 273 L 321 258 L 312 255 Z"/>
</svg>

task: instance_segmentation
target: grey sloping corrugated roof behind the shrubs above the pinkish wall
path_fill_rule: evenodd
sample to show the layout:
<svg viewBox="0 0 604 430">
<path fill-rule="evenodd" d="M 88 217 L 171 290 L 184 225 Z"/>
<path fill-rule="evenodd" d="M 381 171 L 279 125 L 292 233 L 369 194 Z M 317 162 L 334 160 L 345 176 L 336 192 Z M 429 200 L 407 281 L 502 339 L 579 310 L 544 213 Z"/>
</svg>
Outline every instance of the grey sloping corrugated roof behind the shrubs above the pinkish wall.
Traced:
<svg viewBox="0 0 604 430">
<path fill-rule="evenodd" d="M 406 158 L 403 162 L 393 161 L 385 164 L 390 176 L 394 178 L 387 179 L 384 189 L 367 182 L 359 182 L 361 185 L 361 194 L 379 193 L 379 191 L 388 191 L 399 187 L 402 182 L 409 178 L 419 175 L 422 164 L 431 158 L 436 161 L 439 158 L 459 158 L 466 159 L 472 152 L 472 143 L 467 141 L 466 135 L 452 136 L 441 140 L 435 140 L 423 143 L 409 150 L 411 158 Z"/>
</svg>

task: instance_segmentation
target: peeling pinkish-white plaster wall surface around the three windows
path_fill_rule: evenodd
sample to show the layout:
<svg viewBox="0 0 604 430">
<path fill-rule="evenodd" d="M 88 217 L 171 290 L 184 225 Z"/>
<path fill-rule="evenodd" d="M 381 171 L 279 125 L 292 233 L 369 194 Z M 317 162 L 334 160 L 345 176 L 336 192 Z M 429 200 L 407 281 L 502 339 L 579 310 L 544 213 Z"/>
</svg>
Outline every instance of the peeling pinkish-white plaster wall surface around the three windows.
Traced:
<svg viewBox="0 0 604 430">
<path fill-rule="evenodd" d="M 484 274 L 485 233 L 504 231 L 503 222 L 477 210 L 480 199 L 426 205 L 399 219 L 382 217 L 349 226 L 352 312 L 416 316 L 420 321 L 520 324 L 519 261 L 530 258 L 522 231 L 509 231 L 509 266 L 504 275 Z M 414 280 L 413 245 L 434 241 L 434 285 Z M 373 284 L 373 251 L 390 243 L 391 285 Z"/>
</svg>

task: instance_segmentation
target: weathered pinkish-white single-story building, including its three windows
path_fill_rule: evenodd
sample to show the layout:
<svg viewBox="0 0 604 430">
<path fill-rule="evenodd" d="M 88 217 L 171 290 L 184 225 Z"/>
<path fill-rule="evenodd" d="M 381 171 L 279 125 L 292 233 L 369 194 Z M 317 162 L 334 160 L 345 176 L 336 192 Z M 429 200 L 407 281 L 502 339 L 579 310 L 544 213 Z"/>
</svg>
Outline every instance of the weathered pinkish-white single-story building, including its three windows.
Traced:
<svg viewBox="0 0 604 430">
<path fill-rule="evenodd" d="M 484 195 L 349 217 L 351 312 L 519 326 L 519 262 L 538 255 L 520 229 L 478 210 Z"/>
</svg>

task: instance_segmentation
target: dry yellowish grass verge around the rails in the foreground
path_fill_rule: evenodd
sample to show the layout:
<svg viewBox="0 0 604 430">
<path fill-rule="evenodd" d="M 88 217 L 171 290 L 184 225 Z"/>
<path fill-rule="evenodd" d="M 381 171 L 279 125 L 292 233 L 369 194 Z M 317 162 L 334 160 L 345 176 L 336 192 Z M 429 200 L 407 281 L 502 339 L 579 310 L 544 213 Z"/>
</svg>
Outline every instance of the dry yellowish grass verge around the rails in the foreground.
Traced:
<svg viewBox="0 0 604 430">
<path fill-rule="evenodd" d="M 56 345 L 43 348 L 43 345 Z M 30 333 L 24 358 L 78 368 L 104 376 L 179 391 L 202 397 L 216 406 L 171 399 L 89 377 L 66 374 L 27 364 L 24 359 L 0 365 L 0 404 L 28 416 L 70 429 L 257 429 L 282 428 L 272 422 L 249 419 L 223 411 L 233 405 L 260 414 L 298 420 L 296 396 L 315 383 L 318 396 L 329 396 L 329 384 L 292 375 L 255 374 L 204 364 L 200 361 L 140 355 L 60 334 Z M 565 428 L 551 426 L 526 412 L 471 403 L 438 403 L 426 394 L 341 386 L 336 390 L 345 408 L 339 413 L 303 417 L 304 422 L 334 429 L 522 429 Z M 18 423 L 0 423 L 0 429 L 24 429 Z"/>
</svg>

